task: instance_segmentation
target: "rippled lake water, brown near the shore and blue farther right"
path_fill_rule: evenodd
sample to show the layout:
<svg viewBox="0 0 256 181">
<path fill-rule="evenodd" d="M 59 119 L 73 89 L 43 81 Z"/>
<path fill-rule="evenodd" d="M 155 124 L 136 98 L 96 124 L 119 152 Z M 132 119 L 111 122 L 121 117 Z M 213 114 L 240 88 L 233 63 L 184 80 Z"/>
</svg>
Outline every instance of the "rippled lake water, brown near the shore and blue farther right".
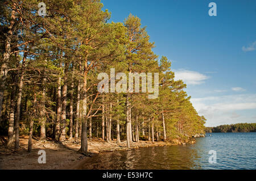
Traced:
<svg viewBox="0 0 256 181">
<path fill-rule="evenodd" d="M 256 169 L 256 133 L 210 133 L 196 144 L 140 148 L 86 158 L 79 169 Z M 217 163 L 209 163 L 215 150 Z"/>
</svg>

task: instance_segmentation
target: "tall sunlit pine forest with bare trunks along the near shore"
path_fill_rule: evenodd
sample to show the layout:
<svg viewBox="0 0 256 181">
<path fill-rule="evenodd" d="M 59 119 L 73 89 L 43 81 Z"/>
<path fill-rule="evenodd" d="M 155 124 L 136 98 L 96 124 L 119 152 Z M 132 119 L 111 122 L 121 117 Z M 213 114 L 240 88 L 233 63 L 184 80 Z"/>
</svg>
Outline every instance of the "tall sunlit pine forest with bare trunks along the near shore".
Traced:
<svg viewBox="0 0 256 181">
<path fill-rule="evenodd" d="M 130 14 L 109 22 L 100 0 L 47 0 L 40 15 L 40 2 L 0 5 L 0 135 L 7 136 L 7 147 L 18 150 L 19 137 L 28 135 L 28 151 L 39 137 L 71 140 L 86 154 L 93 137 L 126 141 L 129 148 L 140 140 L 205 132 L 204 116 L 192 106 L 184 82 L 174 80 L 171 60 L 153 52 L 141 19 Z M 110 69 L 158 73 L 158 97 L 148 99 L 148 90 L 99 92 L 98 74 L 110 75 Z"/>
</svg>

